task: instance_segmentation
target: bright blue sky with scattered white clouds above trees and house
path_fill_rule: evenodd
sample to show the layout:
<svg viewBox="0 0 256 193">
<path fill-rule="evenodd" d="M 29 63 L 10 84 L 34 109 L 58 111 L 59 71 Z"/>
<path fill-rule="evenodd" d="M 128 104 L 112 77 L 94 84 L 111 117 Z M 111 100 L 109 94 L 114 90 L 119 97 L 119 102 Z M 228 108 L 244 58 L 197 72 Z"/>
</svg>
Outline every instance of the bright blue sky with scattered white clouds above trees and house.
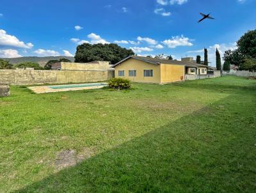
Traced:
<svg viewBox="0 0 256 193">
<path fill-rule="evenodd" d="M 0 57 L 72 56 L 79 43 L 117 42 L 141 56 L 221 54 L 256 28 L 255 0 L 8 0 L 0 6 Z M 211 13 L 204 20 L 199 13 Z"/>
</svg>

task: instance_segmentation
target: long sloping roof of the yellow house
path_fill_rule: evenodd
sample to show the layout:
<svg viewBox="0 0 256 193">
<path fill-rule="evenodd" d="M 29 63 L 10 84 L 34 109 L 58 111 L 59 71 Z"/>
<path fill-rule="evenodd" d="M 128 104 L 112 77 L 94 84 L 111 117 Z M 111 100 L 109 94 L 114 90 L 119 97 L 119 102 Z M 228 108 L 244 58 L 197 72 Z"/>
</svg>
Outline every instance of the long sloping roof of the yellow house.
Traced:
<svg viewBox="0 0 256 193">
<path fill-rule="evenodd" d="M 199 65 L 193 62 L 189 61 L 177 61 L 177 60 L 171 60 L 171 59 L 158 59 L 158 58 L 148 58 L 148 57 L 143 57 L 143 56 L 128 56 L 125 59 L 122 59 L 115 65 L 111 66 L 111 68 L 115 68 L 115 66 L 120 65 L 124 61 L 127 61 L 128 59 L 138 59 L 140 61 L 145 61 L 146 63 L 151 63 L 153 65 L 160 65 L 160 64 L 166 64 L 166 65 L 183 65 L 186 67 L 208 67 L 205 65 Z"/>
</svg>

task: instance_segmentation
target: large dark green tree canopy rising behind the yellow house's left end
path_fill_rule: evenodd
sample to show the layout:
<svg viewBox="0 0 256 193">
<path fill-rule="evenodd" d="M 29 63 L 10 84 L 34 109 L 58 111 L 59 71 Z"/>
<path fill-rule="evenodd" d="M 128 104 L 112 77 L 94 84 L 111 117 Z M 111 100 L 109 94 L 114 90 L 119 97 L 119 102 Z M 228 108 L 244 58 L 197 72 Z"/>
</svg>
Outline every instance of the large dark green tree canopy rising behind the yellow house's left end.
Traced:
<svg viewBox="0 0 256 193">
<path fill-rule="evenodd" d="M 111 64 L 115 64 L 131 55 L 134 55 L 131 49 L 125 49 L 115 43 L 83 43 L 77 46 L 75 62 L 110 61 Z"/>
</svg>

